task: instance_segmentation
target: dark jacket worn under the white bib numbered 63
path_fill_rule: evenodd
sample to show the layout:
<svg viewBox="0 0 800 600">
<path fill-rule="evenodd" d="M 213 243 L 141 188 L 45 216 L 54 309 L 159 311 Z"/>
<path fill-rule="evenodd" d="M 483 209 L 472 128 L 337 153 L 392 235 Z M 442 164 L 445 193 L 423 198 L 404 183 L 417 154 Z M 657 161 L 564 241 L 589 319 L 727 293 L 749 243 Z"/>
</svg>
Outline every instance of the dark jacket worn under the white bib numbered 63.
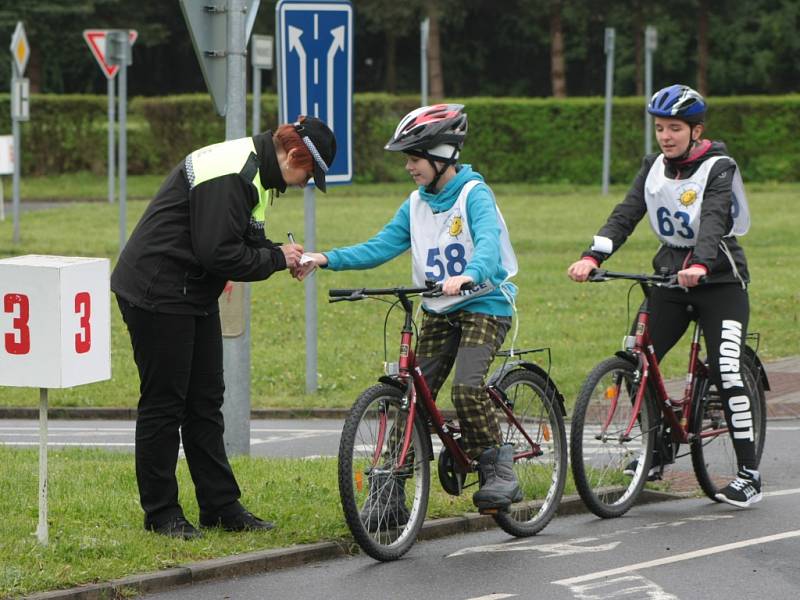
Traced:
<svg viewBox="0 0 800 600">
<path fill-rule="evenodd" d="M 650 167 L 658 156 L 658 154 L 645 156 L 642 168 L 636 175 L 625 200 L 614 207 L 606 224 L 597 232 L 597 235 L 612 240 L 614 251 L 625 243 L 637 223 L 647 213 L 644 183 Z M 703 162 L 713 156 L 729 156 L 725 144 L 712 142 L 711 147 L 704 154 L 689 162 L 665 161 L 665 174 L 671 179 L 686 179 L 697 171 Z M 734 169 L 736 169 L 734 163 L 727 160 L 717 161 L 711 168 L 700 210 L 697 245 L 694 248 L 674 248 L 662 244 L 653 257 L 653 268 L 656 273 L 674 274 L 689 265 L 699 264 L 708 269 L 708 283 L 747 283 L 749 281 L 744 250 L 735 237 L 724 237 L 733 227 L 731 182 Z M 727 254 L 725 249 L 727 249 Z M 590 249 L 582 256 L 591 256 L 600 263 L 606 260 L 610 254 Z M 739 277 L 736 276 L 737 272 Z"/>
</svg>

